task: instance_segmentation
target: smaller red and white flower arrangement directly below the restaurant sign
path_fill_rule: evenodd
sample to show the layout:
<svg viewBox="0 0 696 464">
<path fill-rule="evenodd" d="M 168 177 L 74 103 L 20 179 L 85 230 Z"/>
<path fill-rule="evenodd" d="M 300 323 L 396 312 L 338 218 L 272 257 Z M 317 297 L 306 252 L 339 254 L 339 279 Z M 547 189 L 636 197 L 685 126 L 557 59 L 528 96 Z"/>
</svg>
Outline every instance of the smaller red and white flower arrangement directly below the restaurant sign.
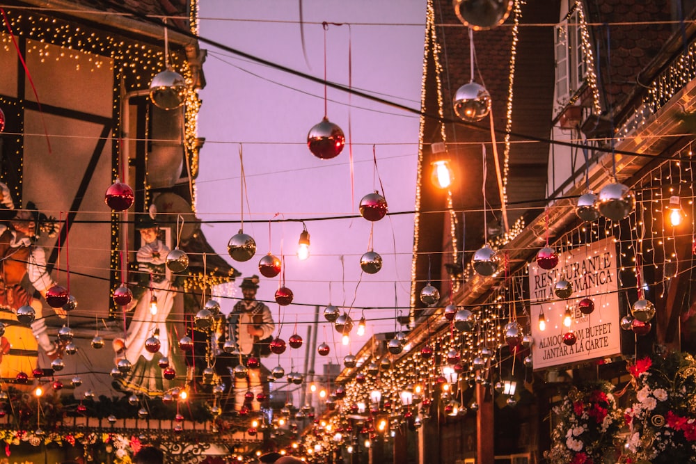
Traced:
<svg viewBox="0 0 696 464">
<path fill-rule="evenodd" d="M 615 463 L 614 441 L 622 426 L 607 382 L 571 387 L 560 405 L 553 408 L 558 422 L 551 433 L 551 449 L 544 456 L 557 464 Z"/>
</svg>

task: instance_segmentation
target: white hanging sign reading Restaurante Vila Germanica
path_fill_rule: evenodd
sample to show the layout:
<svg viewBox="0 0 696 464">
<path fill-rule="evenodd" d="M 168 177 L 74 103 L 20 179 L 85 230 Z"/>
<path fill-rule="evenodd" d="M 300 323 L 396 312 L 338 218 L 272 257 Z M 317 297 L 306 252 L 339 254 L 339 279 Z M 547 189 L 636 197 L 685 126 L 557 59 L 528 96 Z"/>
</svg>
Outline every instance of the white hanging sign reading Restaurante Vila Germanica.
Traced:
<svg viewBox="0 0 696 464">
<path fill-rule="evenodd" d="M 532 362 L 534 369 L 607 358 L 621 353 L 621 319 L 617 278 L 616 246 L 604 239 L 559 254 L 558 265 L 546 271 L 536 262 L 529 264 L 530 317 L 532 326 Z M 556 282 L 567 280 L 573 293 L 557 298 Z M 594 312 L 583 314 L 578 302 L 590 298 Z M 563 325 L 564 314 L 571 312 L 571 326 Z M 546 329 L 539 329 L 539 314 L 544 313 Z M 564 343 L 571 331 L 575 344 Z"/>
</svg>

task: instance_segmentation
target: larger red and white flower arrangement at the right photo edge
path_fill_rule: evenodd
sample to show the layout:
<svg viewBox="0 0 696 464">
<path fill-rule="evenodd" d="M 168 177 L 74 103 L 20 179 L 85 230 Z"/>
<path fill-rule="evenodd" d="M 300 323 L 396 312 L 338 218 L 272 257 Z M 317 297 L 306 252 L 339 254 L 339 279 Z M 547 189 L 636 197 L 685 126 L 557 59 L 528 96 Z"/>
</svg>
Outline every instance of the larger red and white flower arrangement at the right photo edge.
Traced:
<svg viewBox="0 0 696 464">
<path fill-rule="evenodd" d="M 628 366 L 635 403 L 624 417 L 629 427 L 624 461 L 696 463 L 696 360 L 670 353 Z"/>
</svg>

